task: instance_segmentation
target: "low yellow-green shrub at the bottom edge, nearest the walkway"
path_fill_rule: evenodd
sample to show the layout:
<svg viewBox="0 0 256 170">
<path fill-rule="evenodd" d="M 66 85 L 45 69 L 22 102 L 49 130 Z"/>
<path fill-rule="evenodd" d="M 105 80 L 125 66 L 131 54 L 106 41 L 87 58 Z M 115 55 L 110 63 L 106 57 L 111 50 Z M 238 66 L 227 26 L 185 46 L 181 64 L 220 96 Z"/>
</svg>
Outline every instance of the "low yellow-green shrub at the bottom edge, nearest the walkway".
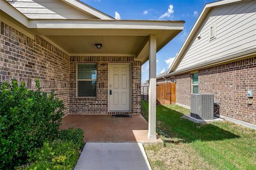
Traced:
<svg viewBox="0 0 256 170">
<path fill-rule="evenodd" d="M 79 146 L 72 141 L 45 142 L 41 149 L 35 149 L 29 154 L 29 160 L 33 163 L 20 166 L 18 169 L 71 170 L 75 167 L 79 154 Z"/>
</svg>

